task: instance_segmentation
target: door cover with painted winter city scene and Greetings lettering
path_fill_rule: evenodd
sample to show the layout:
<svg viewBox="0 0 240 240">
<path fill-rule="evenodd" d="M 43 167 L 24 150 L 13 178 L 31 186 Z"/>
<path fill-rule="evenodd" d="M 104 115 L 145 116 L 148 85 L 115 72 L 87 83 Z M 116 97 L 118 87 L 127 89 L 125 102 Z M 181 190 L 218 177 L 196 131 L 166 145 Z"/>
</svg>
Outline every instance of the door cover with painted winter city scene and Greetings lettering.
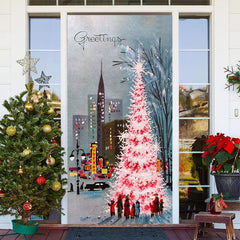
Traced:
<svg viewBox="0 0 240 240">
<path fill-rule="evenodd" d="M 172 222 L 171 15 L 68 16 L 68 218 Z"/>
</svg>

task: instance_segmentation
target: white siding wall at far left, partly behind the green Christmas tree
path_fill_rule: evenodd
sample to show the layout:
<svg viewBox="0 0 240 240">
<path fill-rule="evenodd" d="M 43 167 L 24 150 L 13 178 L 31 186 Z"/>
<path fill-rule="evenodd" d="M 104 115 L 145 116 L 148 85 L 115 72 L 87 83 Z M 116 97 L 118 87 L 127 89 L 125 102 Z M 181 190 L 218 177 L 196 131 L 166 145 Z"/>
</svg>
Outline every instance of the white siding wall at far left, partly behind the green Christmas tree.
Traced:
<svg viewBox="0 0 240 240">
<path fill-rule="evenodd" d="M 0 0 L 0 118 L 7 113 L 2 103 L 24 88 L 25 78 L 16 60 L 26 46 L 25 0 Z M 12 216 L 0 216 L 0 228 L 11 228 Z"/>
</svg>

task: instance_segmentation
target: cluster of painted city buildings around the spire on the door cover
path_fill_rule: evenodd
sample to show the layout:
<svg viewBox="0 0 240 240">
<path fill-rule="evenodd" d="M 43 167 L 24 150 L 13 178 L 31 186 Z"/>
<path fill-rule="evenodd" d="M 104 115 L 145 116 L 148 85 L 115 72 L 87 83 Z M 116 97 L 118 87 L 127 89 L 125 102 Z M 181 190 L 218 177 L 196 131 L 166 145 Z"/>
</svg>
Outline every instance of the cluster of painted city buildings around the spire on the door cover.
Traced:
<svg viewBox="0 0 240 240">
<path fill-rule="evenodd" d="M 126 127 L 126 120 L 123 119 L 122 99 L 106 98 L 103 77 L 103 62 L 101 60 L 100 77 L 96 94 L 89 94 L 88 115 L 73 115 L 73 144 L 78 144 L 88 155 L 90 154 L 91 143 L 97 143 L 98 156 L 103 156 L 107 151 L 114 152 L 118 143 L 118 136 Z M 125 128 L 124 127 L 124 128 Z M 117 154 L 119 153 L 119 147 Z M 108 155 L 108 154 L 107 154 Z M 112 155 L 112 154 L 111 154 Z M 115 154 L 111 163 L 115 163 Z"/>
</svg>

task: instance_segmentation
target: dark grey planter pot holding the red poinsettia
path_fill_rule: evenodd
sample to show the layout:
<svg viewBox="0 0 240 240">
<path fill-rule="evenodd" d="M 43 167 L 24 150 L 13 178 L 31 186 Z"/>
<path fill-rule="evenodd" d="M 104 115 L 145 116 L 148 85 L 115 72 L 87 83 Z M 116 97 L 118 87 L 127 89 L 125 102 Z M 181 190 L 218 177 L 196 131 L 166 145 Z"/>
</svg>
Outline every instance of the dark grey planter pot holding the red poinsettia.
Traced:
<svg viewBox="0 0 240 240">
<path fill-rule="evenodd" d="M 239 200 L 240 198 L 240 174 L 228 173 L 214 174 L 218 193 L 228 194 L 227 199 Z"/>
</svg>

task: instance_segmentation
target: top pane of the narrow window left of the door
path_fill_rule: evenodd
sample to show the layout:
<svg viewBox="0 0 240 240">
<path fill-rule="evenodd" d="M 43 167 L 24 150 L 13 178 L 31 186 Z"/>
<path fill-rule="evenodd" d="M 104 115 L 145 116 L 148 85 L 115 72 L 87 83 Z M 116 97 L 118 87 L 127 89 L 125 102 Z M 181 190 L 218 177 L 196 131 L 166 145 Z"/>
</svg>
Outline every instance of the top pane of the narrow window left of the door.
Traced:
<svg viewBox="0 0 240 240">
<path fill-rule="evenodd" d="M 60 49 L 59 18 L 30 18 L 30 49 Z"/>
</svg>

